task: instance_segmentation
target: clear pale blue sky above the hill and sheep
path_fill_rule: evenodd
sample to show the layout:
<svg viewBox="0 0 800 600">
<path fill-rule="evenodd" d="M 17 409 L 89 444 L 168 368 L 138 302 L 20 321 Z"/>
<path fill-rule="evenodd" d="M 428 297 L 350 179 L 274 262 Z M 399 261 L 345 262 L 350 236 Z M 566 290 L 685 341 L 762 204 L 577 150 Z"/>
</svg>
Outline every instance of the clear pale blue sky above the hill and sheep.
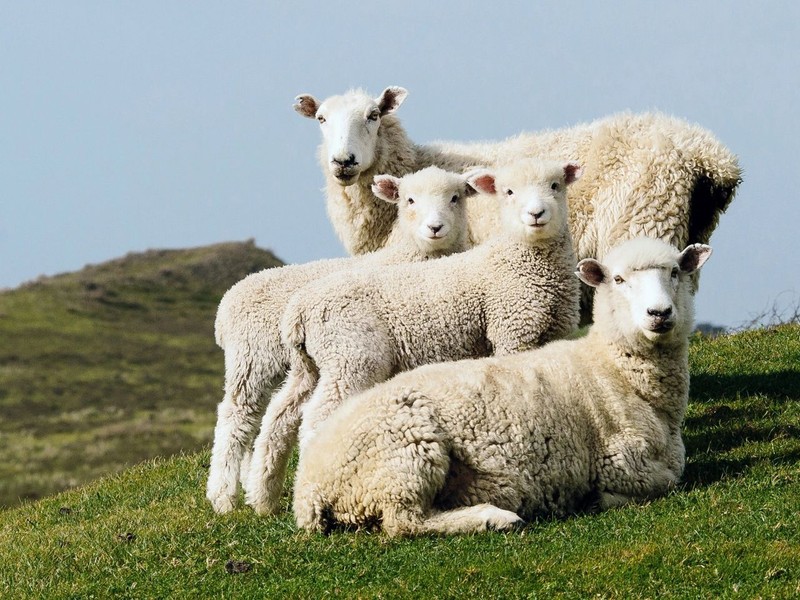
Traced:
<svg viewBox="0 0 800 600">
<path fill-rule="evenodd" d="M 698 321 L 800 299 L 800 2 L 2 2 L 0 288 L 148 248 L 255 238 L 341 256 L 315 122 L 351 87 L 409 90 L 418 142 L 661 110 L 745 180 Z"/>
</svg>

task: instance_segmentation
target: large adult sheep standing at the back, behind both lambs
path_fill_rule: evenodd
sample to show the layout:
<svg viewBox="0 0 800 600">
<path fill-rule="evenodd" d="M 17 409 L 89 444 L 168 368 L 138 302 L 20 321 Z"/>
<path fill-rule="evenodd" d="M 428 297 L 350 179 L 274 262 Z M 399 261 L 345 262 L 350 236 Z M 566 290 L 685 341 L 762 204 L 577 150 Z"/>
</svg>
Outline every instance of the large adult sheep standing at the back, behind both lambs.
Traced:
<svg viewBox="0 0 800 600">
<path fill-rule="evenodd" d="M 579 259 L 602 258 L 641 235 L 681 248 L 707 243 L 741 182 L 736 156 L 710 132 L 662 113 L 620 113 L 496 142 L 419 145 L 395 114 L 407 95 L 392 86 L 377 98 L 362 90 L 322 102 L 310 94 L 296 98 L 295 110 L 320 122 L 327 210 L 350 254 L 382 247 L 396 218 L 396 207 L 370 193 L 374 173 L 401 176 L 432 164 L 461 172 L 526 156 L 576 160 L 584 176 L 570 188 L 569 212 Z M 475 243 L 497 232 L 493 207 L 471 202 L 469 213 Z M 591 320 L 589 292 L 585 287 L 582 323 Z"/>
</svg>

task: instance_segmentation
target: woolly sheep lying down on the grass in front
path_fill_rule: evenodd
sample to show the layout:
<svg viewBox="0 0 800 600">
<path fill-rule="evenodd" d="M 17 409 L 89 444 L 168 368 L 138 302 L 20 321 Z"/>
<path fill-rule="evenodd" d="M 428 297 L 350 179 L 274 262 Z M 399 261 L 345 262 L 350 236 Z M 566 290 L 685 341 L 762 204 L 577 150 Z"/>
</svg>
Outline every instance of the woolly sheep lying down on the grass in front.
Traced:
<svg viewBox="0 0 800 600">
<path fill-rule="evenodd" d="M 711 248 L 624 242 L 578 277 L 580 339 L 420 367 L 348 399 L 300 455 L 297 525 L 506 530 L 661 496 L 685 464 L 690 275 Z"/>
</svg>

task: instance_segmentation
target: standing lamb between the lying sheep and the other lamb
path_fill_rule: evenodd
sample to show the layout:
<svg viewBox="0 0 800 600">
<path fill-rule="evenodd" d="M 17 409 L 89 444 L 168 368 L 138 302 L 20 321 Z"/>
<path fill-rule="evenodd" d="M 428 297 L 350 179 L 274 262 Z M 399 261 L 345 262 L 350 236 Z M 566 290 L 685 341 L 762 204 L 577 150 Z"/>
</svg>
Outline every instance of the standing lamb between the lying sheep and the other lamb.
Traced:
<svg viewBox="0 0 800 600">
<path fill-rule="evenodd" d="M 576 329 L 566 190 L 580 174 L 576 163 L 532 159 L 479 169 L 469 181 L 505 221 L 495 239 L 433 263 L 329 278 L 289 301 L 283 342 L 297 351 L 254 444 L 246 502 L 256 512 L 278 508 L 298 426 L 302 453 L 347 396 L 398 371 L 510 354 Z"/>
</svg>

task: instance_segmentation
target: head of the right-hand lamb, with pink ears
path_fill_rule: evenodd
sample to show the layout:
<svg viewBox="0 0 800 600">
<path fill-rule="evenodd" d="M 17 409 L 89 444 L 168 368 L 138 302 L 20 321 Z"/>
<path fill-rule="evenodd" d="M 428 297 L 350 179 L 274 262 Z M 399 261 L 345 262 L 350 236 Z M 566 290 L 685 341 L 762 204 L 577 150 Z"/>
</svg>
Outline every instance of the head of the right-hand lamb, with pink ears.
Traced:
<svg viewBox="0 0 800 600">
<path fill-rule="evenodd" d="M 506 232 L 532 243 L 546 242 L 567 228 L 567 186 L 582 169 L 576 163 L 524 160 L 499 169 L 474 171 L 479 191 L 497 196 Z"/>
</svg>

